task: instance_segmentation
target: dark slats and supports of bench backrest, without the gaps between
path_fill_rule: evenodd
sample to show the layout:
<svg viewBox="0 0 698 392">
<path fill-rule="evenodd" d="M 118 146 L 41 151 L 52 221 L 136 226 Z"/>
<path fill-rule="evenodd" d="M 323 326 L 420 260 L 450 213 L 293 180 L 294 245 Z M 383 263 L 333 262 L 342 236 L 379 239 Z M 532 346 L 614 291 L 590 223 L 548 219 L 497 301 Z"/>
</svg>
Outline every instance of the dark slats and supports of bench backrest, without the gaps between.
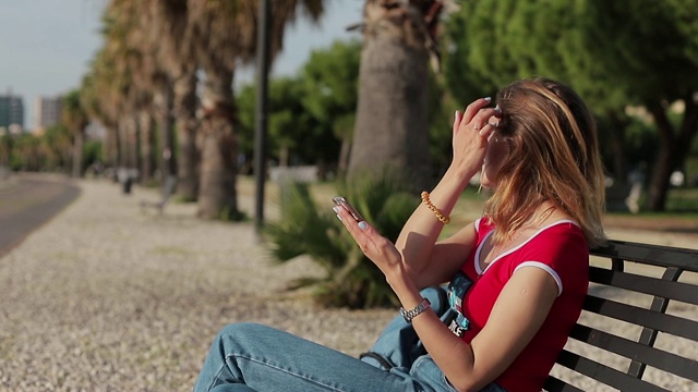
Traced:
<svg viewBox="0 0 698 392">
<path fill-rule="evenodd" d="M 561 353 L 557 364 L 621 391 L 665 391 L 641 379 L 646 366 L 686 380 L 698 381 L 698 360 L 654 347 L 655 338 L 661 332 L 698 342 L 697 320 L 665 314 L 672 301 L 698 305 L 698 285 L 678 282 L 682 274 L 698 272 L 698 249 L 610 241 L 604 247 L 590 248 L 590 253 L 611 259 L 610 268 L 590 267 L 590 282 L 599 283 L 602 291 L 617 289 L 618 292 L 650 295 L 653 298 L 648 299 L 652 299 L 652 303 L 648 305 L 649 308 L 633 306 L 617 299 L 595 296 L 594 289 L 591 287 L 583 305 L 587 313 L 615 319 L 618 326 L 623 322 L 635 324 L 642 329 L 641 333 L 638 333 L 638 340 L 635 341 L 595 330 L 594 327 L 577 324 L 570 332 L 570 339 L 606 351 L 606 354 L 599 353 L 601 358 L 605 358 L 606 355 L 622 355 L 630 359 L 628 370 L 616 370 L 566 350 Z M 660 272 L 663 272 L 662 277 L 625 272 L 628 262 L 659 267 Z M 688 311 L 681 308 L 676 310 L 682 315 Z M 566 377 L 568 376 L 561 375 L 558 379 L 550 376 L 545 382 L 545 390 L 578 392 L 577 387 L 565 381 Z"/>
</svg>

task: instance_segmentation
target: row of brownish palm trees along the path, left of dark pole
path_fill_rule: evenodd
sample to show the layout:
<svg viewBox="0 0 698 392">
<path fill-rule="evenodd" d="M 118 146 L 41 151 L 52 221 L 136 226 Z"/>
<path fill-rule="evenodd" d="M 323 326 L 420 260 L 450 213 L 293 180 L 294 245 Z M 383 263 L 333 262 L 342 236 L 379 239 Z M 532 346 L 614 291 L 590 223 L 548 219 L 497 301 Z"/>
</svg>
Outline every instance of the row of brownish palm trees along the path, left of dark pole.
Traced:
<svg viewBox="0 0 698 392">
<path fill-rule="evenodd" d="M 178 176 L 181 197 L 196 200 L 204 219 L 239 218 L 232 85 L 237 66 L 256 53 L 257 8 L 256 0 L 112 0 L 85 88 L 108 132 L 107 163 L 148 179 L 157 157 L 160 183 Z M 321 0 L 276 1 L 272 54 L 298 12 L 316 20 L 322 11 Z"/>
</svg>

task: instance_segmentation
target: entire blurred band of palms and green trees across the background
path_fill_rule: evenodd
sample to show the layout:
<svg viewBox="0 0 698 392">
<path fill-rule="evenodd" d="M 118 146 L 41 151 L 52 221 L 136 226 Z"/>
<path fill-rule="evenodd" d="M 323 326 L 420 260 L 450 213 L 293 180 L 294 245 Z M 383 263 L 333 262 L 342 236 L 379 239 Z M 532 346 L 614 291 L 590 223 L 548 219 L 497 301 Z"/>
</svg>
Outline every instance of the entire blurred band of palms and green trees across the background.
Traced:
<svg viewBox="0 0 698 392">
<path fill-rule="evenodd" d="M 696 182 L 698 0 L 363 4 L 346 40 L 270 82 L 270 164 L 316 166 L 324 180 L 397 166 L 428 183 L 450 159 L 454 110 L 542 75 L 594 111 L 616 185 L 645 171 L 646 210 L 666 208 L 672 173 Z M 77 175 L 100 160 L 137 170 L 142 184 L 176 175 L 179 198 L 202 218 L 237 217 L 236 176 L 254 175 L 255 85 L 232 86 L 257 50 L 257 7 L 109 1 L 104 46 L 64 97 L 72 114 L 43 136 L 0 135 L 0 162 Z M 272 53 L 288 23 L 323 10 L 321 0 L 274 1 Z M 79 147 L 81 115 L 107 130 L 101 150 Z"/>
</svg>

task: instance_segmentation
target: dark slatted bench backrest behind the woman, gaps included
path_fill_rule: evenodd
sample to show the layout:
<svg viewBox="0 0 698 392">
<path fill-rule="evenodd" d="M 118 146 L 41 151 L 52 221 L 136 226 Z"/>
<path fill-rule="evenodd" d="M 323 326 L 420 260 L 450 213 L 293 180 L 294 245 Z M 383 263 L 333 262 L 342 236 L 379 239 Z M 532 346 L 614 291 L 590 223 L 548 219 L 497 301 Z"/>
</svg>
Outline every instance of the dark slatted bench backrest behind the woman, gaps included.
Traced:
<svg viewBox="0 0 698 392">
<path fill-rule="evenodd" d="M 582 315 L 545 383 L 557 391 L 698 391 L 698 250 L 591 249 Z"/>
</svg>

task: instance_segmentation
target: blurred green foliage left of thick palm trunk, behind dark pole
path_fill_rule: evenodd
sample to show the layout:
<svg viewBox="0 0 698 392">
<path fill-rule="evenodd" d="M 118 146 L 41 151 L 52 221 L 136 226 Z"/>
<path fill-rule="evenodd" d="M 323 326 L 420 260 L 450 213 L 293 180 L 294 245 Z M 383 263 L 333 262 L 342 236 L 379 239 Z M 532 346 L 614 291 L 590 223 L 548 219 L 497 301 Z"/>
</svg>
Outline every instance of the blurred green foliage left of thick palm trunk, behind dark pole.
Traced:
<svg viewBox="0 0 698 392">
<path fill-rule="evenodd" d="M 314 50 L 294 76 L 273 78 L 268 88 L 268 156 L 279 164 L 334 167 L 339 144 L 351 136 L 357 106 L 360 44 L 336 41 Z M 253 155 L 256 85 L 237 94 L 240 148 Z M 249 159 L 248 159 L 249 161 Z"/>
</svg>

